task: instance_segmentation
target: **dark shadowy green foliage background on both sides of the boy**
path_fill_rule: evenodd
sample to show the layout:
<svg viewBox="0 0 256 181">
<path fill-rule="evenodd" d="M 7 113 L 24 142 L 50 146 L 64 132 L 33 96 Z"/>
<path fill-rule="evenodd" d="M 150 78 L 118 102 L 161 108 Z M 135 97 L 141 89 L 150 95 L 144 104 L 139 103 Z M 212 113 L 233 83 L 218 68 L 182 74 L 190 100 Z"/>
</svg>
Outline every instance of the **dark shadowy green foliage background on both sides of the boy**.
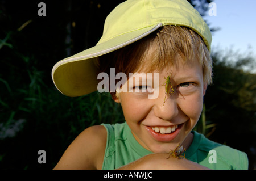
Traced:
<svg viewBox="0 0 256 181">
<path fill-rule="evenodd" d="M 79 98 L 60 94 L 51 69 L 67 56 L 92 47 L 102 35 L 106 15 L 122 1 L 0 0 L 0 169 L 52 169 L 85 128 L 122 123 L 122 109 L 109 94 Z M 194 6 L 201 14 L 210 1 Z M 197 131 L 211 140 L 245 151 L 255 168 L 255 57 L 214 50 L 214 84 L 208 87 Z M 45 150 L 47 163 L 38 163 Z"/>
</svg>

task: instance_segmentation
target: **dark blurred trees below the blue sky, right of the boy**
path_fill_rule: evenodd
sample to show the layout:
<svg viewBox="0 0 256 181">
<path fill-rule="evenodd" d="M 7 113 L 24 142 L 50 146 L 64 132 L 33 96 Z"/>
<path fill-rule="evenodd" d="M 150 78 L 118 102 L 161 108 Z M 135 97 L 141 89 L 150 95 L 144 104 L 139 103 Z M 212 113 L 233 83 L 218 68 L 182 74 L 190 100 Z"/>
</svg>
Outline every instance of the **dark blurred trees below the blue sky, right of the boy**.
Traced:
<svg viewBox="0 0 256 181">
<path fill-rule="evenodd" d="M 210 139 L 245 151 L 252 167 L 255 155 L 256 128 L 256 74 L 253 54 L 239 54 L 232 49 L 212 53 L 213 85 L 204 97 L 206 117 L 217 124 Z M 255 147 L 254 147 L 255 148 Z"/>
</svg>

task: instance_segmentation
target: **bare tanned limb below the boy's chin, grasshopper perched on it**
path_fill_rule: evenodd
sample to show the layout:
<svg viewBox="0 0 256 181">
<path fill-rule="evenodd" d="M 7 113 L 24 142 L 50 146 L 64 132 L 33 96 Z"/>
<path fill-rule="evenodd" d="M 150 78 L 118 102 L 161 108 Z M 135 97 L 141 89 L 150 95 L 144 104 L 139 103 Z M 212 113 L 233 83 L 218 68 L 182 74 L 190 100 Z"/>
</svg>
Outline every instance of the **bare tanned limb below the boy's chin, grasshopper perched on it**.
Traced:
<svg viewBox="0 0 256 181">
<path fill-rule="evenodd" d="M 208 169 L 195 162 L 181 158 L 177 159 L 169 157 L 168 153 L 154 153 L 137 159 L 125 166 L 120 167 L 121 170 L 201 170 Z M 168 159 L 167 159 L 168 158 Z"/>
</svg>

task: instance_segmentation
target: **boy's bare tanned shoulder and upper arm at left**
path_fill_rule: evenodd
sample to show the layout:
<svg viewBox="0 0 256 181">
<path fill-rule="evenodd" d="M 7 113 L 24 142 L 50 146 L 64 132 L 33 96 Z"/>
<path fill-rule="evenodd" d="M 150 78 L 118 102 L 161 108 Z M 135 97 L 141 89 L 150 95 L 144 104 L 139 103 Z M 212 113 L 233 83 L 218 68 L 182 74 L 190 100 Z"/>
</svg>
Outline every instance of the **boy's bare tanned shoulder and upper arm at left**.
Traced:
<svg viewBox="0 0 256 181">
<path fill-rule="evenodd" d="M 54 169 L 101 169 L 106 148 L 106 129 L 85 129 L 68 146 Z"/>
</svg>

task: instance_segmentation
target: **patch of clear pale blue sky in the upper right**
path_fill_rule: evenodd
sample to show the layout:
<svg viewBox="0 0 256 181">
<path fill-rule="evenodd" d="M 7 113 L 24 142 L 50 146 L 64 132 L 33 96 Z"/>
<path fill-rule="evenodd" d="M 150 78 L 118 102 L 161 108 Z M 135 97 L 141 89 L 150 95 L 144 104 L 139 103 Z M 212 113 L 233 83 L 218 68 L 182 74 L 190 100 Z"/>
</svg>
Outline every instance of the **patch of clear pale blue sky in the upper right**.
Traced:
<svg viewBox="0 0 256 181">
<path fill-rule="evenodd" d="M 220 28 L 214 32 L 212 49 L 233 48 L 239 53 L 251 51 L 256 54 L 256 1 L 255 0 L 213 0 L 216 5 L 216 14 L 213 6 L 209 7 L 204 19 L 210 28 Z M 210 10 L 212 9 L 212 10 Z M 215 48 L 214 48 L 215 47 Z"/>
</svg>

